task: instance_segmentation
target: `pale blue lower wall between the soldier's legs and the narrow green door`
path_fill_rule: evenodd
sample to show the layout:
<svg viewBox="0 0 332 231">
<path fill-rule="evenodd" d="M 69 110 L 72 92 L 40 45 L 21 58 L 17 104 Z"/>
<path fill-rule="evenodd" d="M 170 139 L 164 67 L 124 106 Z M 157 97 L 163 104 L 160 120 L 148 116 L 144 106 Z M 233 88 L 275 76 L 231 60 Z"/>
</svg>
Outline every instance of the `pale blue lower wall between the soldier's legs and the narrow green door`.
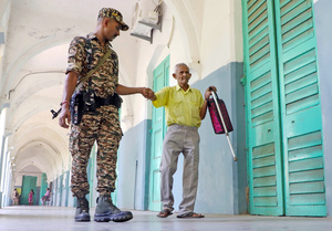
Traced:
<svg viewBox="0 0 332 231">
<path fill-rule="evenodd" d="M 117 207 L 147 210 L 151 119 L 128 129 L 120 143 Z"/>
</svg>

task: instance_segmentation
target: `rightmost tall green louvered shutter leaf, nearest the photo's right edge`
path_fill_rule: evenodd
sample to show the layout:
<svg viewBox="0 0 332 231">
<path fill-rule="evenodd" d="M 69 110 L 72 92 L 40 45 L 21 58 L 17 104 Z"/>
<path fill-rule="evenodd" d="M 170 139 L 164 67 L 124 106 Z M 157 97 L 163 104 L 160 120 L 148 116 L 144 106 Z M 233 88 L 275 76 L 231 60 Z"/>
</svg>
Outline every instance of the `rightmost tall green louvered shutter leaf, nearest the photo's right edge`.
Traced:
<svg viewBox="0 0 332 231">
<path fill-rule="evenodd" d="M 287 216 L 326 216 L 312 0 L 276 1 Z"/>
</svg>

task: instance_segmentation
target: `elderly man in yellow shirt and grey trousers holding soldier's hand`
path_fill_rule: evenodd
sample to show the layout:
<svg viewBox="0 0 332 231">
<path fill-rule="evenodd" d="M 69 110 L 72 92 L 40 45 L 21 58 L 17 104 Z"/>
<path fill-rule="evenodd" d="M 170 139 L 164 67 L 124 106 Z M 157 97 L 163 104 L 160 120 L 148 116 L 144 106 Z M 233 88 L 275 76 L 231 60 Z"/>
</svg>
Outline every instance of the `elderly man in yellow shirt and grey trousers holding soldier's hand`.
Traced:
<svg viewBox="0 0 332 231">
<path fill-rule="evenodd" d="M 205 98 L 198 90 L 188 84 L 191 74 L 185 63 L 175 66 L 173 77 L 177 80 L 176 86 L 166 86 L 156 94 L 149 92 L 149 99 L 155 107 L 165 106 L 167 133 L 163 145 L 160 164 L 162 186 L 160 195 L 163 211 L 157 217 L 167 218 L 174 210 L 173 175 L 177 169 L 177 160 L 180 153 L 185 157 L 183 176 L 183 201 L 179 204 L 177 218 L 204 218 L 194 212 L 199 161 L 199 135 L 198 127 L 205 118 L 207 98 L 211 92 L 206 90 Z M 214 91 L 216 87 L 212 86 Z"/>
</svg>

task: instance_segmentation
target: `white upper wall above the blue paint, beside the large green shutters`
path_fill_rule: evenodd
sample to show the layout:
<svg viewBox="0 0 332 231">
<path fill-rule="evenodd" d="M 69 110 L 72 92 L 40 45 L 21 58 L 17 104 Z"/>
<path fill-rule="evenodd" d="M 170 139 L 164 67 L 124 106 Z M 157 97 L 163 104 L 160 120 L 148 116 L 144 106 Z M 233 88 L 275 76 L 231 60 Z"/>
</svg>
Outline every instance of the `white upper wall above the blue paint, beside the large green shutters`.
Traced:
<svg viewBox="0 0 332 231">
<path fill-rule="evenodd" d="M 201 31 L 203 78 L 230 62 L 242 62 L 240 0 L 209 0 L 204 8 Z"/>
</svg>

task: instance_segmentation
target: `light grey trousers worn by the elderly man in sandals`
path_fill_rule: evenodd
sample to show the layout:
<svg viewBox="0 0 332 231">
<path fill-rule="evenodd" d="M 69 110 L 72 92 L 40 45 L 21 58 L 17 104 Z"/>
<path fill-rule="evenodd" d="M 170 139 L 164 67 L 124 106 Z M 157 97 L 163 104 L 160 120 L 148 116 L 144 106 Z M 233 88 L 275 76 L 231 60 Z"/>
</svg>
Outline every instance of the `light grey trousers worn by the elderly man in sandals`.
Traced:
<svg viewBox="0 0 332 231">
<path fill-rule="evenodd" d="M 197 127 L 170 125 L 163 144 L 160 162 L 160 196 L 163 209 L 174 210 L 173 175 L 177 169 L 180 153 L 184 155 L 183 201 L 179 204 L 179 214 L 194 211 L 199 162 L 199 134 Z"/>
</svg>

